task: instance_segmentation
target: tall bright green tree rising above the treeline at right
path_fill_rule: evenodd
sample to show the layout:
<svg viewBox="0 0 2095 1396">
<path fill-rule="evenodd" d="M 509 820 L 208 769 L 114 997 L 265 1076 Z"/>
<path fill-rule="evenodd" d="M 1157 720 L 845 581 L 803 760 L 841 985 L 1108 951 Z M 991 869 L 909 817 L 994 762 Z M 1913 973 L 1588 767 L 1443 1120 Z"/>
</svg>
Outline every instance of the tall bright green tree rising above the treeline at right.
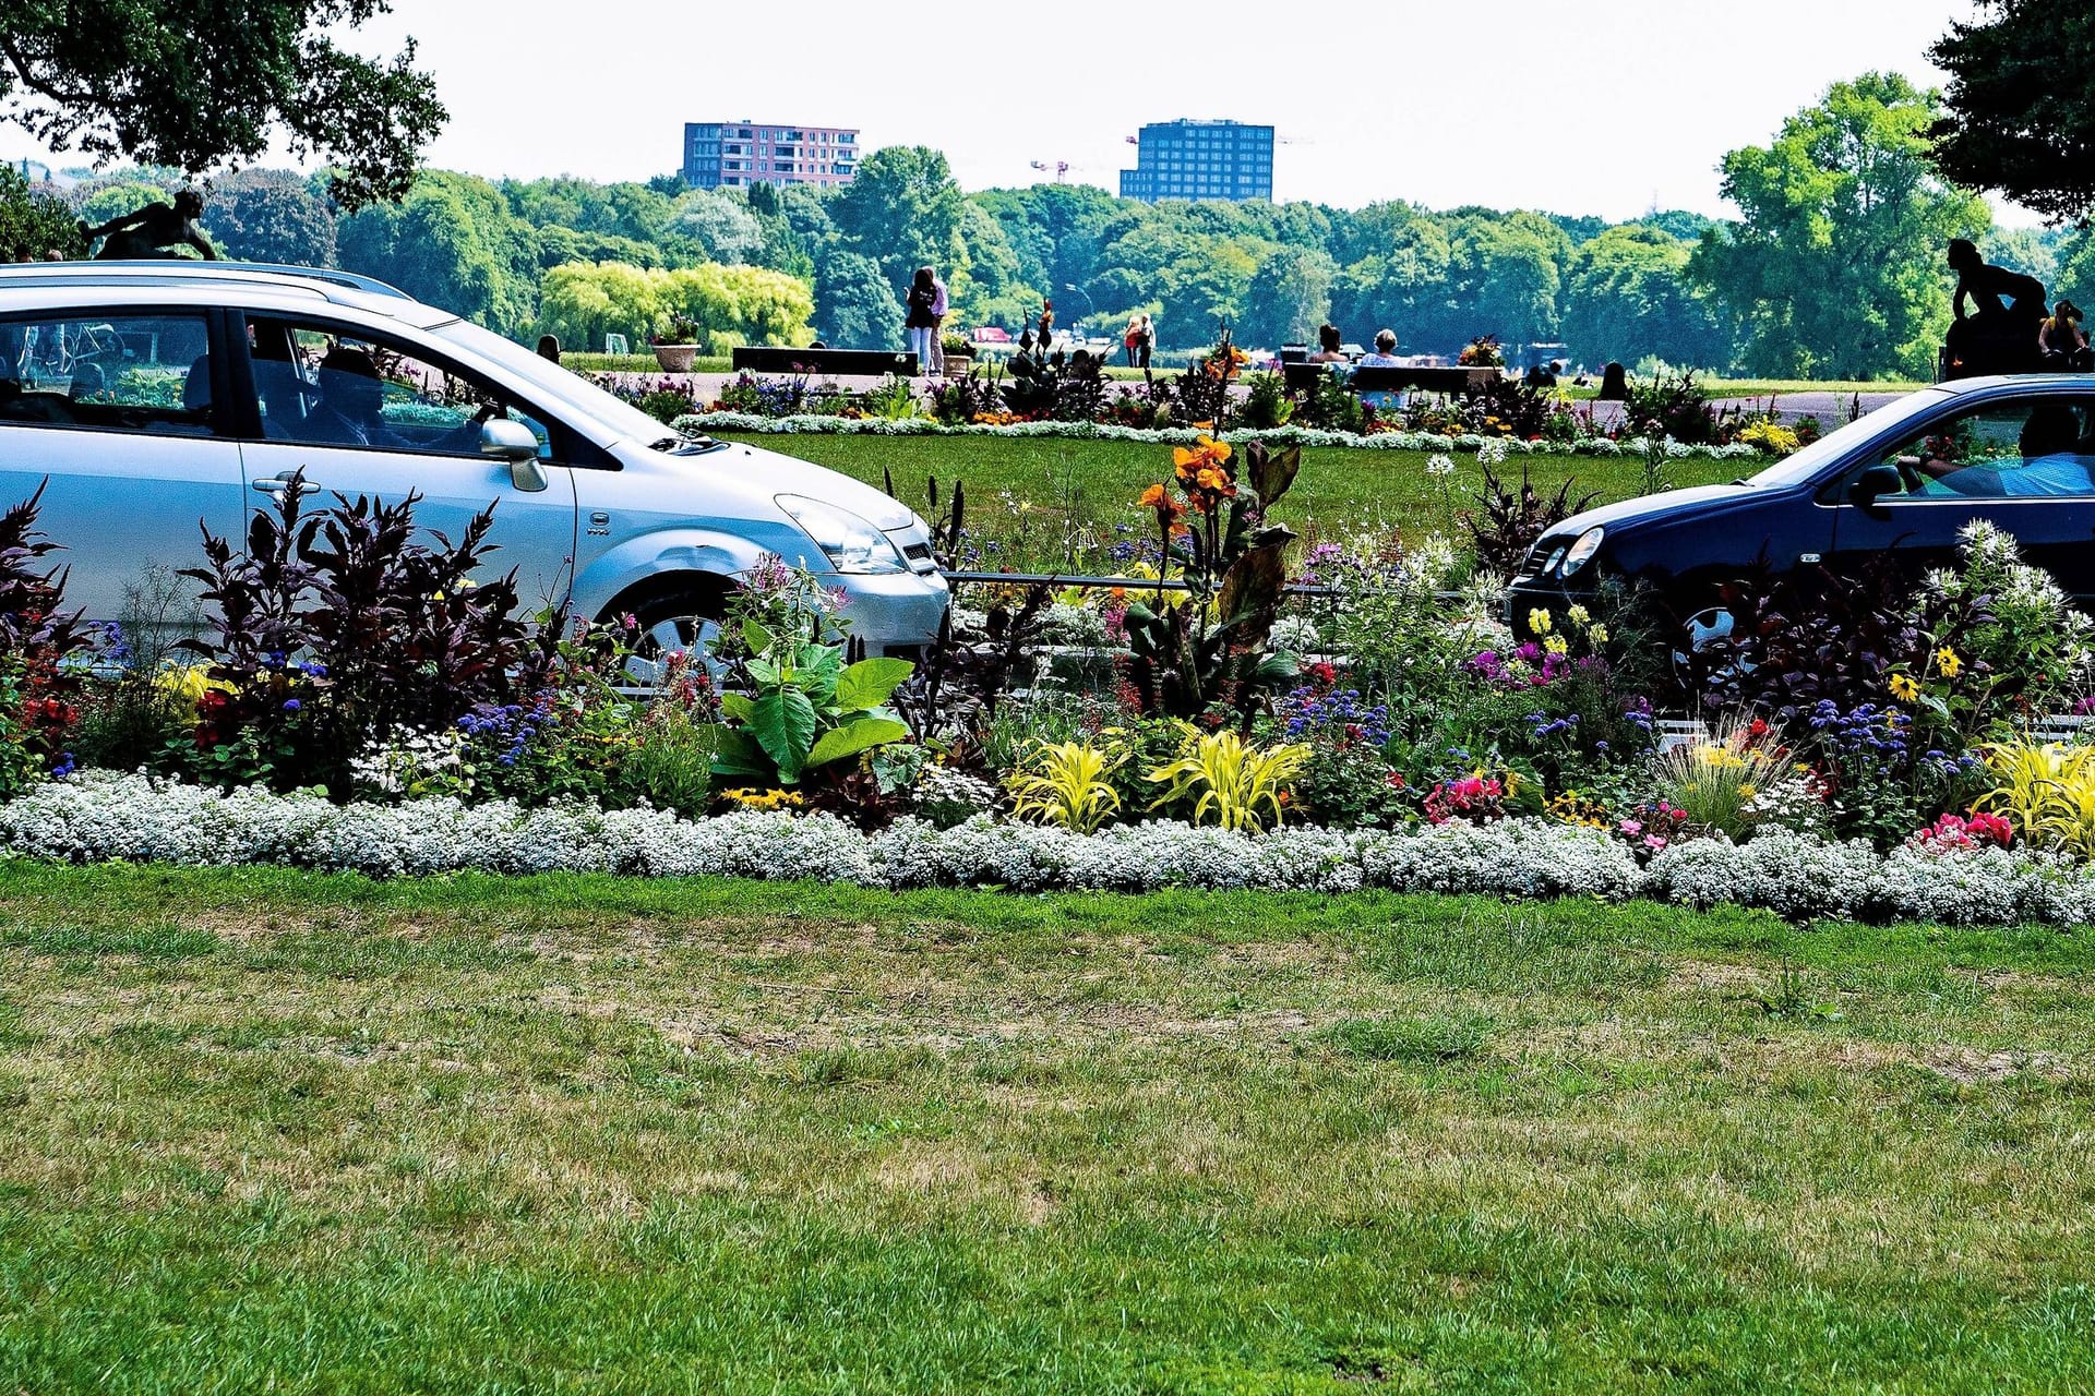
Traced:
<svg viewBox="0 0 2095 1396">
<path fill-rule="evenodd" d="M 1942 249 L 1986 203 L 1942 184 L 1932 92 L 1896 73 L 1837 82 L 1770 147 L 1724 157 L 1743 218 L 1710 228 L 1689 274 L 1770 377 L 1932 377 L 1948 324 Z"/>
</svg>

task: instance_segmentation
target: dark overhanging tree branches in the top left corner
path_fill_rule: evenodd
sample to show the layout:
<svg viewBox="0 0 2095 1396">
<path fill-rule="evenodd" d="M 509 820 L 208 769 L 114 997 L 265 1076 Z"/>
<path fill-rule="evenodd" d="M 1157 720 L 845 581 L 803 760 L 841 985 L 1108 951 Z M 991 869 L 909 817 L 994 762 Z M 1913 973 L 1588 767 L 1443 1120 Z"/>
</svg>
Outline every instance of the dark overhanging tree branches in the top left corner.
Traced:
<svg viewBox="0 0 2095 1396">
<path fill-rule="evenodd" d="M 54 151 L 201 174 L 287 136 L 335 165 L 346 209 L 398 199 L 446 119 L 413 67 L 335 42 L 388 0 L 29 0 L 0 8 L 0 119 Z"/>
</svg>

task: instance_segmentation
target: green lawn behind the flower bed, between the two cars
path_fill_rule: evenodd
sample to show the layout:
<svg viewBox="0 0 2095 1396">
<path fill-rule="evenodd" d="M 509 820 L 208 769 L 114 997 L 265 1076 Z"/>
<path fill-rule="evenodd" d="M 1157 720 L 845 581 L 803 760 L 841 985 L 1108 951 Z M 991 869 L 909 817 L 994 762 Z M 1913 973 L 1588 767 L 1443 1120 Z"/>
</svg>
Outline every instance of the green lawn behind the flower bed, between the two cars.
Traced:
<svg viewBox="0 0 2095 1396">
<path fill-rule="evenodd" d="M 1171 448 L 1138 442 L 1058 442 L 1052 437 L 874 437 L 874 435 L 729 435 L 802 460 L 828 465 L 872 486 L 882 471 L 892 475 L 897 498 L 926 511 L 926 481 L 936 479 L 941 500 L 953 481 L 968 488 L 968 530 L 985 546 L 980 565 L 991 569 L 1100 569 L 1102 548 L 1123 534 L 1144 536 L 1154 515 L 1135 509 L 1148 486 L 1171 475 Z M 1399 532 L 1406 540 L 1443 534 L 1467 540 L 1460 515 L 1475 509 L 1483 486 L 1475 456 L 1456 456 L 1456 473 L 1446 490 L 1425 473 L 1427 456 L 1406 450 L 1303 452 L 1295 488 L 1276 517 L 1307 538 Z M 1519 481 L 1521 465 L 1542 492 L 1575 481 L 1573 498 L 1596 494 L 1598 502 L 1630 498 L 1642 490 L 1645 467 L 1634 458 L 1515 456 L 1498 475 Z M 1707 486 L 1737 479 L 1737 460 L 1676 460 L 1676 486 Z M 928 511 L 926 511 L 928 513 Z"/>
</svg>

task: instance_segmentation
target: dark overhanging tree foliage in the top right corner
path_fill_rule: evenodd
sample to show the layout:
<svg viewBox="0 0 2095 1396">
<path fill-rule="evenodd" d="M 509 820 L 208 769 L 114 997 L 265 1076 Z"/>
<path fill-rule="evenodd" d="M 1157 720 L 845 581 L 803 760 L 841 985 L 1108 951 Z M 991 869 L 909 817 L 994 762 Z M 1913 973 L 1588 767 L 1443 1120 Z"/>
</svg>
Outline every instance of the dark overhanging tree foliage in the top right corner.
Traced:
<svg viewBox="0 0 2095 1396">
<path fill-rule="evenodd" d="M 1936 165 L 2051 220 L 2095 216 L 2095 0 L 1982 0 L 1929 50 L 1950 75 Z"/>
</svg>

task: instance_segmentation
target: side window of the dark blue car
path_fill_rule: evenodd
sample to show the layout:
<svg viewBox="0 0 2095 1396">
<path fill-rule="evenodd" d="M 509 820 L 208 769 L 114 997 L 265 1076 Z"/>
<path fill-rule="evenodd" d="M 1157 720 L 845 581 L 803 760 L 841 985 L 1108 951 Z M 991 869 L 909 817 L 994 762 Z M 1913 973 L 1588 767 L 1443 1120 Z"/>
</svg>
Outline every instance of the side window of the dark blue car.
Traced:
<svg viewBox="0 0 2095 1396">
<path fill-rule="evenodd" d="M 2095 398 L 1992 402 L 1900 442 L 1879 498 L 2095 498 Z"/>
</svg>

